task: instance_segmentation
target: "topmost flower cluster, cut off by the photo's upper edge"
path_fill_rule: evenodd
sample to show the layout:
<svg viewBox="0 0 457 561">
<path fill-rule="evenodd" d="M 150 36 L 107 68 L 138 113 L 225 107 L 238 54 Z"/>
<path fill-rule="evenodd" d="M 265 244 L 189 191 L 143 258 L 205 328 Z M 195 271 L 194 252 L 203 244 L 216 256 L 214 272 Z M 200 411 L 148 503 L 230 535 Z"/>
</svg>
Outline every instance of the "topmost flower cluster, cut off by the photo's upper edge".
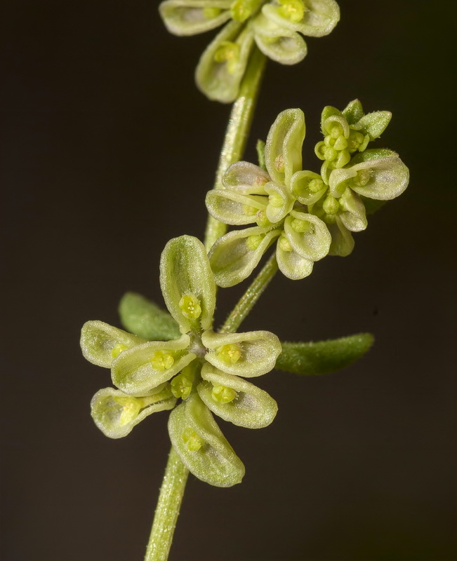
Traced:
<svg viewBox="0 0 457 561">
<path fill-rule="evenodd" d="M 197 66 L 196 80 L 210 99 L 232 102 L 254 43 L 272 60 L 294 65 L 305 58 L 300 34 L 329 34 L 340 18 L 335 0 L 165 0 L 159 6 L 167 29 L 194 35 L 226 24 Z"/>
</svg>

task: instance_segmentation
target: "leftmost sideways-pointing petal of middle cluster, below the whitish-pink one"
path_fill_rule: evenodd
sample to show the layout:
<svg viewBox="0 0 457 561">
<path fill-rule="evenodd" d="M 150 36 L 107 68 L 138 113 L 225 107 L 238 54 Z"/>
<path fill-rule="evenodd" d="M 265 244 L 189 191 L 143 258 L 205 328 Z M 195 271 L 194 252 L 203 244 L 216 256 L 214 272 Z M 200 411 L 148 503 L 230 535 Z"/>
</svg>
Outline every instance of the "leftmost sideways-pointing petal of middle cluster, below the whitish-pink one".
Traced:
<svg viewBox="0 0 457 561">
<path fill-rule="evenodd" d="M 266 210 L 265 196 L 249 196 L 233 189 L 212 189 L 206 194 L 206 208 L 211 216 L 224 224 L 241 226 L 257 221 L 257 212 Z"/>
</svg>

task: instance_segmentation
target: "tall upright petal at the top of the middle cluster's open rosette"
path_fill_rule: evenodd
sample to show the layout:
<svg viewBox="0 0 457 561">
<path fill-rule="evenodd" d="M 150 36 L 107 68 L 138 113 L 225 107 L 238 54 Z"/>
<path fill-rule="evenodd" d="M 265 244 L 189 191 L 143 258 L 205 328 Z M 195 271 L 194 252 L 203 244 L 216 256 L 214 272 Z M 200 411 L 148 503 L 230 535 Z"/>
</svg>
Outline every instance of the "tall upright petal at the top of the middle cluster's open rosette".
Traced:
<svg viewBox="0 0 457 561">
<path fill-rule="evenodd" d="M 303 111 L 286 109 L 279 113 L 270 128 L 265 144 L 265 164 L 274 182 L 289 186 L 292 175 L 301 169 L 304 139 Z"/>
</svg>

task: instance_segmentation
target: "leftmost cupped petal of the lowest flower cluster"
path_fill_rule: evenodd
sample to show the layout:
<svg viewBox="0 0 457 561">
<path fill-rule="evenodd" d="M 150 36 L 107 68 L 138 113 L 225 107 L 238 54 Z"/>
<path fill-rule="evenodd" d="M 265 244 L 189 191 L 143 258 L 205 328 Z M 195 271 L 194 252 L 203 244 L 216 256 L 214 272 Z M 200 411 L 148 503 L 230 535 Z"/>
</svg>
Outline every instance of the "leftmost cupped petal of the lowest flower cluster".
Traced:
<svg viewBox="0 0 457 561">
<path fill-rule="evenodd" d="M 110 368 L 119 353 L 145 340 L 102 321 L 86 321 L 81 329 L 80 344 L 84 358 L 90 363 Z"/>
</svg>

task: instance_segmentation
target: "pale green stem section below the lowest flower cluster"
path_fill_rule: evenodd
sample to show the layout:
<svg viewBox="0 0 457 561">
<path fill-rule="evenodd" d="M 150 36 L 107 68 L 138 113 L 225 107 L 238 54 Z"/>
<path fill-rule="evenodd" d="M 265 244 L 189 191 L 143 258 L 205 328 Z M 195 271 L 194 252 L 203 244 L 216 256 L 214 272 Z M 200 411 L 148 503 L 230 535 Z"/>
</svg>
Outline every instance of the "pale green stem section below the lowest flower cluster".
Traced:
<svg viewBox="0 0 457 561">
<path fill-rule="evenodd" d="M 171 447 L 152 523 L 145 561 L 166 561 L 183 500 L 189 471 Z"/>
</svg>

